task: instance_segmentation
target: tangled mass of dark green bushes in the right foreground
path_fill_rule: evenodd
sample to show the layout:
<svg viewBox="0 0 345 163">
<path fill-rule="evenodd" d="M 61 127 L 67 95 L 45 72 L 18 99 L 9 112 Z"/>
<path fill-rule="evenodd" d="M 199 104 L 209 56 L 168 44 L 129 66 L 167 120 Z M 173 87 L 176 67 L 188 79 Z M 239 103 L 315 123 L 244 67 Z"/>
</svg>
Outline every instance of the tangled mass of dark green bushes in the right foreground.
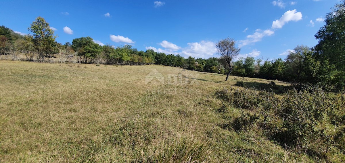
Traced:
<svg viewBox="0 0 345 163">
<path fill-rule="evenodd" d="M 326 161 L 344 151 L 344 94 L 305 87 L 279 99 L 267 91 L 230 88 L 216 96 L 225 104 L 250 110 L 228 123 L 235 130 L 264 129 L 269 138 Z"/>
</svg>

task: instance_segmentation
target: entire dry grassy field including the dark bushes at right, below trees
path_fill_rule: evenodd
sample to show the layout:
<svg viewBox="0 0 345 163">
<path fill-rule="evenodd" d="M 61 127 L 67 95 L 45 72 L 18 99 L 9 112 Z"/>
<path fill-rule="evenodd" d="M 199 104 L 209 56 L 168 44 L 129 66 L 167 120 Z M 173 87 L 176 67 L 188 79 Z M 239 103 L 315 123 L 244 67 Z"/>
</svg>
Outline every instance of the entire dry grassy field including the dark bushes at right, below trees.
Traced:
<svg viewBox="0 0 345 163">
<path fill-rule="evenodd" d="M 2 162 L 345 160 L 344 94 L 161 65 L 0 60 L 0 75 Z"/>
</svg>

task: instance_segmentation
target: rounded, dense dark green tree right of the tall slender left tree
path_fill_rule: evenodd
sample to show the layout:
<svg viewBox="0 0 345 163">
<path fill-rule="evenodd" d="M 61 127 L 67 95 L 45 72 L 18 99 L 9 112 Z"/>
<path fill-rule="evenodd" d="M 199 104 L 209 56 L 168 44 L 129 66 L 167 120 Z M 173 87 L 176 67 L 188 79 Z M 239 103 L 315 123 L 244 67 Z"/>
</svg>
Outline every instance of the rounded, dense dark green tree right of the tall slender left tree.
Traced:
<svg viewBox="0 0 345 163">
<path fill-rule="evenodd" d="M 101 47 L 93 42 L 90 36 L 73 39 L 72 48 L 78 56 L 84 57 L 85 63 L 88 63 L 88 59 L 95 58 L 101 52 Z"/>
</svg>

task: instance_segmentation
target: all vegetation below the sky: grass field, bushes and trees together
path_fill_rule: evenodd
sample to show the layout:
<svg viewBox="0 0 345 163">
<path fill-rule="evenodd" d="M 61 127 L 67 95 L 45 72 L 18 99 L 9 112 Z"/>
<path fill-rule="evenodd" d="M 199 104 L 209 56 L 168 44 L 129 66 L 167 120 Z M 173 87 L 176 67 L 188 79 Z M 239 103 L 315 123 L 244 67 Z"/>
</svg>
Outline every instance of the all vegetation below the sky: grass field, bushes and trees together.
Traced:
<svg viewBox="0 0 345 163">
<path fill-rule="evenodd" d="M 344 11 L 264 64 L 229 38 L 195 59 L 1 26 L 0 162 L 345 162 Z"/>
</svg>

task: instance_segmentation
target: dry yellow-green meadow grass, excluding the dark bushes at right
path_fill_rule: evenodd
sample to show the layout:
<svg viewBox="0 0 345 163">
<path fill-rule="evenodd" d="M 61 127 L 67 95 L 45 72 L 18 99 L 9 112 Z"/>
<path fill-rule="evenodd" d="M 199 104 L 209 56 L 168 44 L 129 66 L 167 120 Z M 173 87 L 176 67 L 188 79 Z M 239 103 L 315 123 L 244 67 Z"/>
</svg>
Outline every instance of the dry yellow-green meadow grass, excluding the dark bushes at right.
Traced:
<svg viewBox="0 0 345 163">
<path fill-rule="evenodd" d="M 154 69 L 164 83 L 147 83 Z M 315 161 L 261 130 L 221 125 L 242 110 L 217 111 L 216 90 L 270 80 L 224 81 L 225 75 L 160 65 L 7 60 L 0 60 L 0 76 L 0 162 Z"/>
</svg>

